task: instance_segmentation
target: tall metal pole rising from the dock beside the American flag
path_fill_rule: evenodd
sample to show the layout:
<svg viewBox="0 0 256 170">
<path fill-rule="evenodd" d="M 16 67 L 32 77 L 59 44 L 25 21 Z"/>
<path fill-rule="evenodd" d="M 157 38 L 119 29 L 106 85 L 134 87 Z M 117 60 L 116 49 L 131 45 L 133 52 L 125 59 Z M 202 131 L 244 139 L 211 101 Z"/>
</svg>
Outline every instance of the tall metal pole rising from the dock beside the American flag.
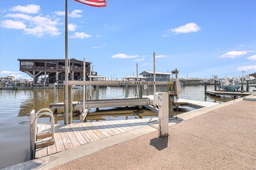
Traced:
<svg viewBox="0 0 256 170">
<path fill-rule="evenodd" d="M 68 125 L 68 0 L 66 0 L 65 7 L 65 112 L 66 112 L 66 125 Z"/>
</svg>

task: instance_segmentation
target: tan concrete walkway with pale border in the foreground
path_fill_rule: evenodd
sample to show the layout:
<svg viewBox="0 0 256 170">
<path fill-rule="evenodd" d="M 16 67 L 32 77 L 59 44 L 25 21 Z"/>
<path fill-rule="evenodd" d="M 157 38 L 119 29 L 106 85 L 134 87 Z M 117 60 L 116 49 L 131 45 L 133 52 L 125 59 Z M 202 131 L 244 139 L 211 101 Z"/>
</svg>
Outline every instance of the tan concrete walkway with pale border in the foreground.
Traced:
<svg viewBox="0 0 256 170">
<path fill-rule="evenodd" d="M 255 101 L 250 95 L 179 115 L 166 138 L 146 126 L 4 169 L 255 170 Z"/>
</svg>

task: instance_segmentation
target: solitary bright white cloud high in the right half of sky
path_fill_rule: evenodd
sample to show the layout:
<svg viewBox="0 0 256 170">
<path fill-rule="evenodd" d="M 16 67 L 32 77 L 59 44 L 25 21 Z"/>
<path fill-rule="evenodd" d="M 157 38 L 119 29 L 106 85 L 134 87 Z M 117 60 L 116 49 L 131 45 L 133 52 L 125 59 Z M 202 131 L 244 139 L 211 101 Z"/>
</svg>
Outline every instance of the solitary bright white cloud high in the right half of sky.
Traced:
<svg viewBox="0 0 256 170">
<path fill-rule="evenodd" d="M 190 32 L 200 31 L 200 29 L 201 28 L 198 25 L 196 25 L 196 23 L 190 22 L 190 23 L 187 23 L 187 24 L 182 25 L 180 27 L 170 29 L 169 32 L 174 33 L 174 34 L 190 33 Z"/>
</svg>

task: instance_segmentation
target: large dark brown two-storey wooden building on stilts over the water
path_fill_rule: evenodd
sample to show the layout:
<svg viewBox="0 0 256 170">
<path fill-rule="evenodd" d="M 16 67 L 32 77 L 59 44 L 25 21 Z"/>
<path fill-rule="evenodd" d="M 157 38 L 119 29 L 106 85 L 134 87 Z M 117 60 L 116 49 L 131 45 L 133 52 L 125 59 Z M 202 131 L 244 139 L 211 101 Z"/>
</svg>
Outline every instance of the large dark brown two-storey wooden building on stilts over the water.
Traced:
<svg viewBox="0 0 256 170">
<path fill-rule="evenodd" d="M 20 71 L 25 72 L 33 83 L 62 83 L 65 80 L 65 59 L 18 59 Z M 69 80 L 83 80 L 83 61 L 69 59 Z M 90 62 L 86 62 L 86 80 L 89 80 Z M 93 72 L 97 76 L 97 72 Z"/>
</svg>

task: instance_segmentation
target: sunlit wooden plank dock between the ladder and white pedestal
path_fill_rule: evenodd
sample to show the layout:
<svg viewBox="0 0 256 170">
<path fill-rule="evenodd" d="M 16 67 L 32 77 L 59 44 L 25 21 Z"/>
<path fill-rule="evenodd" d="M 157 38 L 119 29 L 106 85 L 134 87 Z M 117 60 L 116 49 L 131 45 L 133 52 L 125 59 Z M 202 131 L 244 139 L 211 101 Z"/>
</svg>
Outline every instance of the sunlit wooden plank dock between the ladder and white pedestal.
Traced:
<svg viewBox="0 0 256 170">
<path fill-rule="evenodd" d="M 147 126 L 149 121 L 154 120 L 158 120 L 158 117 L 54 125 L 54 145 L 36 149 L 35 158 L 41 158 L 119 133 L 138 129 Z M 158 128 L 158 121 L 154 121 L 150 124 Z M 40 129 L 40 132 L 50 131 L 50 125 L 38 124 L 38 129 Z"/>
</svg>

